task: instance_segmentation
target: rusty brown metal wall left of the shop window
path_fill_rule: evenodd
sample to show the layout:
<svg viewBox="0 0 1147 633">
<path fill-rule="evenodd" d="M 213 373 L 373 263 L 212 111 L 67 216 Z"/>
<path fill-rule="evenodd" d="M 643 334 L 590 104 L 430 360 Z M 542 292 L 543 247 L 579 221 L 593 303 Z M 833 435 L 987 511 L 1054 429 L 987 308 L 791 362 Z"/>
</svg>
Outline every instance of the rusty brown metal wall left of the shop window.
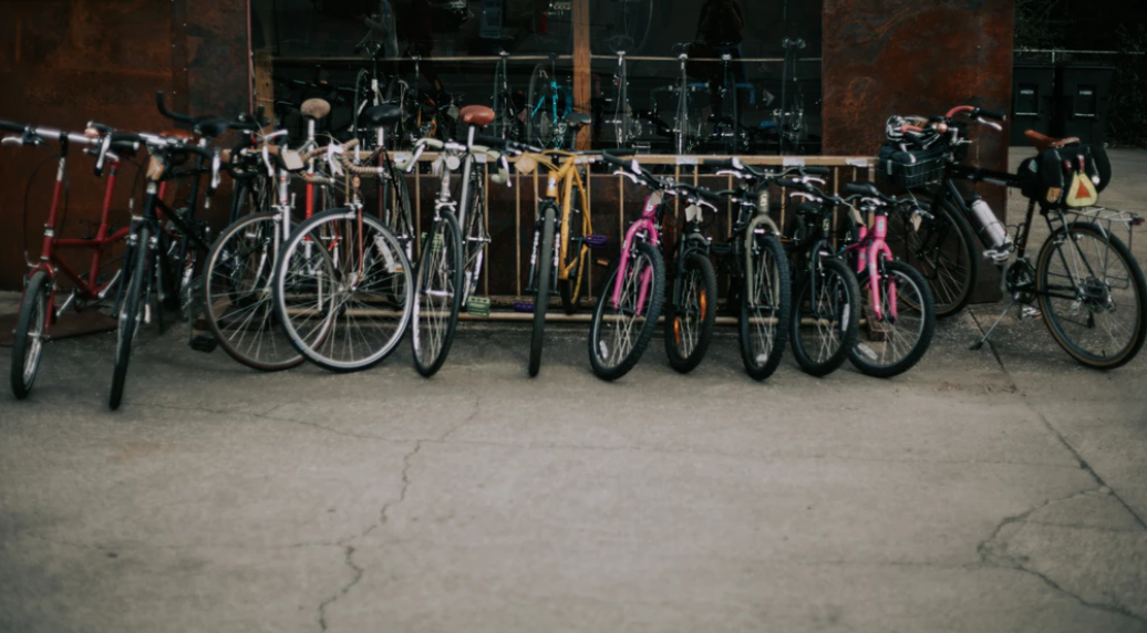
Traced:
<svg viewBox="0 0 1147 633">
<path fill-rule="evenodd" d="M 187 7 L 194 1 L 194 11 Z M 243 0 L 0 0 L 0 119 L 83 130 L 97 120 L 127 130 L 171 127 L 155 92 L 173 107 L 234 115 L 245 108 L 247 16 Z M 24 245 L 38 253 L 53 166 L 36 173 L 52 147 L 0 149 L 0 288 L 22 284 Z M 92 161 L 69 165 L 63 236 L 84 236 L 97 219 L 103 182 Z M 111 219 L 127 221 L 135 169 L 120 171 Z M 28 218 L 24 230 L 25 189 Z M 219 204 L 218 206 L 226 206 Z"/>
</svg>

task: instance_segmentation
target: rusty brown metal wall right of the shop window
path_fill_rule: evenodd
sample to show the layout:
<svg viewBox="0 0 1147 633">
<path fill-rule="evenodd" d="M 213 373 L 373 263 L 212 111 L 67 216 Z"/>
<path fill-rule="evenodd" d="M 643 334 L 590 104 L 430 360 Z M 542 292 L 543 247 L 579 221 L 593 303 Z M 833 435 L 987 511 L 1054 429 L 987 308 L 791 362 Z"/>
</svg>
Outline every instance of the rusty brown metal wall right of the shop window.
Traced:
<svg viewBox="0 0 1147 633">
<path fill-rule="evenodd" d="M 1009 111 L 1013 30 L 1013 0 L 825 0 L 825 154 L 874 155 L 896 114 Z M 969 158 L 1006 171 L 1008 132 L 981 128 Z M 1006 190 L 980 194 L 1004 218 Z M 981 266 L 975 298 L 998 296 L 994 268 Z"/>
</svg>

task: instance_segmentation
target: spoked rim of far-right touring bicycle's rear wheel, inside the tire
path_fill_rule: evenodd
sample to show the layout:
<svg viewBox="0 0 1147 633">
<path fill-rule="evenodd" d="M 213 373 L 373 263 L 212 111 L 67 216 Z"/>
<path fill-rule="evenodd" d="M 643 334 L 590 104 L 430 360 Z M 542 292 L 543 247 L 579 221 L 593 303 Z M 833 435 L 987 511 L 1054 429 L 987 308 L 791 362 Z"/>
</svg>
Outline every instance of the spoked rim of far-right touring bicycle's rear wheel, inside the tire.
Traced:
<svg viewBox="0 0 1147 633">
<path fill-rule="evenodd" d="M 1078 352 L 1095 360 L 1121 358 L 1136 344 L 1139 297 L 1122 253 L 1098 235 L 1070 233 L 1044 265 L 1045 316 Z M 1075 280 L 1075 282 L 1072 282 Z"/>
</svg>

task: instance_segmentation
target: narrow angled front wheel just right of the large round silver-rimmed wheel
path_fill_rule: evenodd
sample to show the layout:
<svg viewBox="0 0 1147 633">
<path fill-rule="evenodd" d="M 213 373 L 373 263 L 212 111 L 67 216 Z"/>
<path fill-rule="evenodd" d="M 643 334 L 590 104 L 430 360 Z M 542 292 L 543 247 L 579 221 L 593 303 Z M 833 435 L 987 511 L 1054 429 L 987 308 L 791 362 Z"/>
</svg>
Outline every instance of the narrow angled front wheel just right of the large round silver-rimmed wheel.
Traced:
<svg viewBox="0 0 1147 633">
<path fill-rule="evenodd" d="M 411 330 L 414 368 L 428 378 L 442 369 L 454 341 L 462 308 L 462 266 L 458 220 L 450 211 L 440 211 L 422 243 Z"/>
</svg>

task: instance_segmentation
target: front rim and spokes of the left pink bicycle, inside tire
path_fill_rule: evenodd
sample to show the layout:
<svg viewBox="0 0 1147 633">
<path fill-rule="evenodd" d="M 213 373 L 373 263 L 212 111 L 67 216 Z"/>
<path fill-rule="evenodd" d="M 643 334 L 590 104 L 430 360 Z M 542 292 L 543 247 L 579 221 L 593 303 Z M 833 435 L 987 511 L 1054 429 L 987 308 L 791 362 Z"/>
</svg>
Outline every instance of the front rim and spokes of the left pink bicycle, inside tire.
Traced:
<svg viewBox="0 0 1147 633">
<path fill-rule="evenodd" d="M 630 258 L 630 265 L 626 267 L 617 305 L 614 305 L 612 297 L 609 295 L 599 299 L 604 303 L 604 306 L 594 352 L 603 366 L 617 367 L 637 345 L 641 325 L 645 323 L 646 313 L 651 303 L 651 297 L 647 296 L 642 313 L 639 314 L 637 311 L 638 297 L 642 286 L 651 290 L 651 276 L 653 263 L 649 261 L 649 257 L 645 253 L 635 253 Z M 612 288 L 611 281 L 607 286 L 607 292 L 611 291 Z"/>
</svg>

